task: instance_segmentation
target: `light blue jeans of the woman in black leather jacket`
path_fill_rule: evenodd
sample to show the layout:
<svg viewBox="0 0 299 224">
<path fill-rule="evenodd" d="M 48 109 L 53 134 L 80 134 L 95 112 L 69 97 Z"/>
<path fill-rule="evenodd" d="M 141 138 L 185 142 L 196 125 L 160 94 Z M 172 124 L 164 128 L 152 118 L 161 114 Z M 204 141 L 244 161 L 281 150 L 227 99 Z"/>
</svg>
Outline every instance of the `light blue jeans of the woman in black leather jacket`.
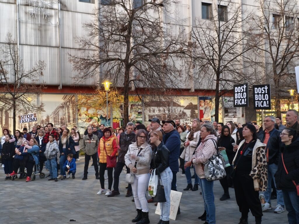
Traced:
<svg viewBox="0 0 299 224">
<path fill-rule="evenodd" d="M 164 191 L 165 191 L 165 197 L 166 197 L 166 202 L 160 202 L 160 208 L 161 208 L 161 215 L 160 219 L 163 221 L 168 221 L 169 220 L 169 215 L 170 215 L 170 191 L 171 191 L 171 182 L 172 182 L 172 171 L 170 170 L 169 167 L 167 167 L 161 174 L 161 180 L 162 183 L 161 185 L 164 186 Z"/>
</svg>

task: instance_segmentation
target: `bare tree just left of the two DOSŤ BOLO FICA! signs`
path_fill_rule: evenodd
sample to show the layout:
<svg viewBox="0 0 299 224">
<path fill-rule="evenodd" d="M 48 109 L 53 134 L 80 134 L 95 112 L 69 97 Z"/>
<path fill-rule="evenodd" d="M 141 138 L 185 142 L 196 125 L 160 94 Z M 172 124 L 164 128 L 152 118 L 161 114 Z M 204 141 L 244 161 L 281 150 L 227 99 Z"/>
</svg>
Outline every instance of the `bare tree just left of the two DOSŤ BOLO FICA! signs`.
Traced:
<svg viewBox="0 0 299 224">
<path fill-rule="evenodd" d="M 217 4 L 204 7 L 202 18 L 196 19 L 192 30 L 197 69 L 194 76 L 197 75 L 203 87 L 215 89 L 215 121 L 218 122 L 220 97 L 232 85 L 248 81 L 243 62 L 245 58 L 251 61 L 246 55 L 255 42 L 251 28 L 246 25 L 251 13 L 242 11 L 240 3 L 218 0 Z"/>
</svg>

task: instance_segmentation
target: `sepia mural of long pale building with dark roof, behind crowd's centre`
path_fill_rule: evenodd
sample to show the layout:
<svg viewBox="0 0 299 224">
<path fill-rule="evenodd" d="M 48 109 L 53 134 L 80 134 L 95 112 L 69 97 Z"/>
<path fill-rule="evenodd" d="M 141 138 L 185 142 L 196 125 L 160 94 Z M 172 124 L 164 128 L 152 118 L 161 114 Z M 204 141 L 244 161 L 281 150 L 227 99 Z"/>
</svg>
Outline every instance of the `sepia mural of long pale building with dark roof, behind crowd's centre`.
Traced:
<svg viewBox="0 0 299 224">
<path fill-rule="evenodd" d="M 144 110 L 145 122 L 153 117 L 160 121 L 180 119 L 181 123 L 191 124 L 198 117 L 198 98 L 196 96 L 167 96 L 165 100 L 146 100 Z"/>
</svg>

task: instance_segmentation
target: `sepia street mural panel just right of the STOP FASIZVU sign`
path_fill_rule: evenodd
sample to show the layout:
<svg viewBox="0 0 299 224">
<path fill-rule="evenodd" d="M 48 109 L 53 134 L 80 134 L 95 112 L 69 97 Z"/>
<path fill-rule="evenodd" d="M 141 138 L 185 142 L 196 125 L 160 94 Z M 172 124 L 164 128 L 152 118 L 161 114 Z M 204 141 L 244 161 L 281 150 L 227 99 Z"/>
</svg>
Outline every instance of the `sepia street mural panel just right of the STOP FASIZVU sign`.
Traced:
<svg viewBox="0 0 299 224">
<path fill-rule="evenodd" d="M 70 94 L 43 94 L 40 96 L 44 111 L 40 113 L 38 124 L 52 123 L 55 128 L 66 125 L 73 128 L 76 122 L 76 96 Z"/>
</svg>

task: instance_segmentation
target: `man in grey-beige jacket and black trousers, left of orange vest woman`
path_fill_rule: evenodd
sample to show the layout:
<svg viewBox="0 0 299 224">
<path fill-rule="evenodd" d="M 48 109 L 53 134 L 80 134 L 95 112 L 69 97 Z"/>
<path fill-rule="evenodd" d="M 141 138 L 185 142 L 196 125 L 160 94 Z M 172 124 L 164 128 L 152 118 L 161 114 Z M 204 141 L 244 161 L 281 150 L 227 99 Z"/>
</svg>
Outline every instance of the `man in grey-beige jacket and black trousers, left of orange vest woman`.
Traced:
<svg viewBox="0 0 299 224">
<path fill-rule="evenodd" d="M 97 149 L 99 146 L 99 139 L 96 135 L 92 133 L 91 126 L 87 127 L 87 135 L 83 137 L 83 145 L 81 149 L 85 152 L 85 165 L 84 165 L 84 176 L 83 180 L 87 179 L 88 174 L 88 166 L 90 157 L 92 158 L 92 162 L 94 164 L 95 170 L 95 178 L 100 179 L 99 177 L 99 166 L 97 165 Z"/>
</svg>

